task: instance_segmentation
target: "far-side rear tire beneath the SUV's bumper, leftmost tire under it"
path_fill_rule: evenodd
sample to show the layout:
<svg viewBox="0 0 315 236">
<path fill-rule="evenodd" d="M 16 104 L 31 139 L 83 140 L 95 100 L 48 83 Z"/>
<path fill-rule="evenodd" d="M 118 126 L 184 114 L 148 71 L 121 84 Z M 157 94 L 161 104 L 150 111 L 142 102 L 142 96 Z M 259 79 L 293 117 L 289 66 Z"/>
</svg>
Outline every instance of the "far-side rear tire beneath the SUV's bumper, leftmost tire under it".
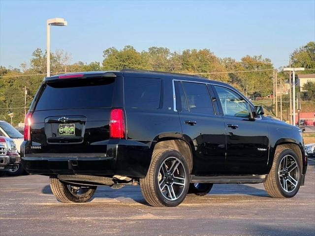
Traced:
<svg viewBox="0 0 315 236">
<path fill-rule="evenodd" d="M 69 185 L 61 182 L 57 176 L 49 177 L 50 188 L 58 201 L 62 203 L 86 203 L 90 201 L 95 194 L 96 186 Z M 82 194 L 74 194 L 70 189 L 80 188 Z"/>
</svg>

